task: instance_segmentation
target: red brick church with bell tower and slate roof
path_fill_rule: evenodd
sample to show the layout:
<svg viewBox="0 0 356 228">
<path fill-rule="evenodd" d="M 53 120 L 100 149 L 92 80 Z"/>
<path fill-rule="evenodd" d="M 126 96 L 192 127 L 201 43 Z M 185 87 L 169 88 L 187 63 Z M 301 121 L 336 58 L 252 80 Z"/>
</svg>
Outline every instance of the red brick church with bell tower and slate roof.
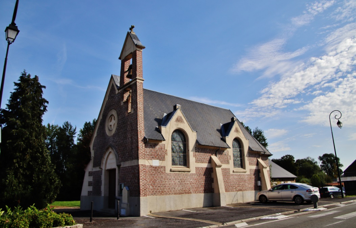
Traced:
<svg viewBox="0 0 356 228">
<path fill-rule="evenodd" d="M 122 215 L 254 201 L 270 188 L 266 150 L 228 109 L 143 88 L 133 29 L 90 143 L 80 209 Z"/>
</svg>

